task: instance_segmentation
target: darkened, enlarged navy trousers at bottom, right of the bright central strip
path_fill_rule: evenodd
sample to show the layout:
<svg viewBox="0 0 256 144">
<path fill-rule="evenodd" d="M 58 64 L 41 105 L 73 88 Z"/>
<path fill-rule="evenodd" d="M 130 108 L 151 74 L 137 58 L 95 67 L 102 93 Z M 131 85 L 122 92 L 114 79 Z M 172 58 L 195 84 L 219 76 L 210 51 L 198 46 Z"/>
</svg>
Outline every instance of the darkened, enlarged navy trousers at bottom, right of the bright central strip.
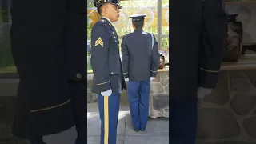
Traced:
<svg viewBox="0 0 256 144">
<path fill-rule="evenodd" d="M 197 134 L 198 99 L 170 98 L 170 129 L 171 144 L 195 144 Z"/>
</svg>

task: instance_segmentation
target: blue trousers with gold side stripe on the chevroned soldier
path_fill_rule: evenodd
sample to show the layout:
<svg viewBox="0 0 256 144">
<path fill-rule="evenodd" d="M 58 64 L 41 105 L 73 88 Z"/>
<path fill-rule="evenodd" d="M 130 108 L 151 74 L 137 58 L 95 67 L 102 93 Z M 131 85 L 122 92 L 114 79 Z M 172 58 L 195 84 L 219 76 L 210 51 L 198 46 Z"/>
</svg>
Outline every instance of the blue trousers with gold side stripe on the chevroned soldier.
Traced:
<svg viewBox="0 0 256 144">
<path fill-rule="evenodd" d="M 108 144 L 116 144 L 119 102 L 120 94 L 111 94 L 109 97 L 98 94 L 98 110 L 102 122 L 100 144 L 106 144 L 104 140 Z M 108 125 L 105 126 L 105 122 Z"/>
</svg>

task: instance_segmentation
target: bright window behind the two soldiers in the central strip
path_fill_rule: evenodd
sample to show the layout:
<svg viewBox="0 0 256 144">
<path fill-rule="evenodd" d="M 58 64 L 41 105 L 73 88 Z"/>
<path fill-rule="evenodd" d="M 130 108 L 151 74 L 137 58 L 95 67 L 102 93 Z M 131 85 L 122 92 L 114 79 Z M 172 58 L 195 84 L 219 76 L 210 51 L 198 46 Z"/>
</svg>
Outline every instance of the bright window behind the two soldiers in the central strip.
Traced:
<svg viewBox="0 0 256 144">
<path fill-rule="evenodd" d="M 120 10 L 118 22 L 113 25 L 118 33 L 119 48 L 121 49 L 122 36 L 133 32 L 131 26 L 131 14 L 144 13 L 146 14 L 146 26 L 144 30 L 154 34 L 158 41 L 159 49 L 169 48 L 169 1 L 168 0 L 126 0 L 121 1 L 120 5 L 123 8 Z M 93 5 L 93 1 L 87 2 L 87 42 L 90 43 L 90 31 L 95 22 L 98 22 L 100 16 Z M 161 21 L 159 20 L 161 19 Z M 88 44 L 89 44 L 88 43 Z M 90 67 L 90 49 L 88 47 L 87 72 L 92 73 Z"/>
</svg>

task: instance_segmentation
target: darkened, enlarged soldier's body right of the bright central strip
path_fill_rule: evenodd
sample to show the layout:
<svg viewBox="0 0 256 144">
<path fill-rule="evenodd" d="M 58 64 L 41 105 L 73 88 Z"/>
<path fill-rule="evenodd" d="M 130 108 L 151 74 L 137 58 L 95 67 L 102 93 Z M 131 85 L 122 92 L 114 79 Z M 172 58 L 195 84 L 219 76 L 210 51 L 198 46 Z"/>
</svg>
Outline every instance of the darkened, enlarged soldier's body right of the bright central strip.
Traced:
<svg viewBox="0 0 256 144">
<path fill-rule="evenodd" d="M 226 20 L 222 0 L 170 1 L 170 143 L 196 142 L 198 98 L 216 86 Z"/>
</svg>

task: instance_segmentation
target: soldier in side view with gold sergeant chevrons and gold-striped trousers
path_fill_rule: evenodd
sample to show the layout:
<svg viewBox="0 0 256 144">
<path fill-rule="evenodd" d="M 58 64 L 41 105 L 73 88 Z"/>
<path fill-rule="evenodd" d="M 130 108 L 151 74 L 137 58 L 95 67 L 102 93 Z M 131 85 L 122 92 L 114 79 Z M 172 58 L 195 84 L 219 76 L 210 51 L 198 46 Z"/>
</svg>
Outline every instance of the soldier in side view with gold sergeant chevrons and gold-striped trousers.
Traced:
<svg viewBox="0 0 256 144">
<path fill-rule="evenodd" d="M 118 34 L 113 23 L 118 21 L 117 0 L 95 0 L 101 19 L 91 30 L 91 67 L 94 72 L 92 92 L 98 95 L 101 119 L 101 144 L 115 144 L 117 137 L 120 93 L 126 89 L 118 49 Z"/>
</svg>

